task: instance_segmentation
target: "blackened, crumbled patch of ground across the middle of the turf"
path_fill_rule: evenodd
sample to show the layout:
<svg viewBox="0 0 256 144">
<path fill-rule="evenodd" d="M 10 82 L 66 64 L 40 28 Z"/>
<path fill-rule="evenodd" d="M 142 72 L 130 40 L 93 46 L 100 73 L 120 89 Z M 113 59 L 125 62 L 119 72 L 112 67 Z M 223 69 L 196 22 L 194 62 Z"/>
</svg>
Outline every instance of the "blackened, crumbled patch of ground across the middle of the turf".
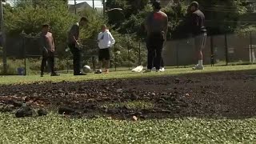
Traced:
<svg viewBox="0 0 256 144">
<path fill-rule="evenodd" d="M 256 115 L 255 72 L 0 86 L 0 110 L 18 110 L 26 102 L 34 108 L 87 118 L 250 118 Z M 104 105 L 128 101 L 151 102 L 154 108 Z"/>
</svg>

